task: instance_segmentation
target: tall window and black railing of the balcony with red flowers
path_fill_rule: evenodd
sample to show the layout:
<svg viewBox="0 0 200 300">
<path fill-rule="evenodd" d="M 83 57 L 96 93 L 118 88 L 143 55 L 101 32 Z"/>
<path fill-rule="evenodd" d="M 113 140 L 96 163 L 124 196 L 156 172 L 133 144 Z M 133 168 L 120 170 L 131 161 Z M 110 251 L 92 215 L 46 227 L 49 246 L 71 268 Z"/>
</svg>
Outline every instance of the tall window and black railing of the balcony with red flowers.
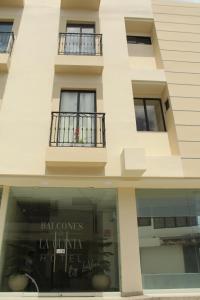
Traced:
<svg viewBox="0 0 200 300">
<path fill-rule="evenodd" d="M 59 112 L 52 112 L 50 146 L 105 147 L 105 114 L 96 112 L 96 92 L 61 92 Z"/>
</svg>

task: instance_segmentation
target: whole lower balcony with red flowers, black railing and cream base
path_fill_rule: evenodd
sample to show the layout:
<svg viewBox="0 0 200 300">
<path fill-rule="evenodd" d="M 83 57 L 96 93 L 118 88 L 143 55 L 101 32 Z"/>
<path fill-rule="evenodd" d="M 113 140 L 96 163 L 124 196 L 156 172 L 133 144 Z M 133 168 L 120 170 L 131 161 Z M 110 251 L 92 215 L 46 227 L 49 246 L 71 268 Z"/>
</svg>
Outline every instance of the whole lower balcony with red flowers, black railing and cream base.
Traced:
<svg viewBox="0 0 200 300">
<path fill-rule="evenodd" d="M 107 162 L 104 113 L 52 112 L 48 167 L 103 167 Z"/>
</svg>

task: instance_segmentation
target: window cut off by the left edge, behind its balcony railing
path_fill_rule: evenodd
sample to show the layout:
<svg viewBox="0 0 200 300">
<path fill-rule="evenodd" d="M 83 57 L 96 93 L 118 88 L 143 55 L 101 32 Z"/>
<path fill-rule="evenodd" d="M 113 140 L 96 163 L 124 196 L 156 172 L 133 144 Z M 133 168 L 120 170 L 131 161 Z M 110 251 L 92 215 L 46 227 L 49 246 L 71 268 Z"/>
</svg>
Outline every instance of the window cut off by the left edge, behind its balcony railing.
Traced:
<svg viewBox="0 0 200 300">
<path fill-rule="evenodd" d="M 12 43 L 13 22 L 0 22 L 0 53 L 8 52 L 9 44 Z"/>
</svg>

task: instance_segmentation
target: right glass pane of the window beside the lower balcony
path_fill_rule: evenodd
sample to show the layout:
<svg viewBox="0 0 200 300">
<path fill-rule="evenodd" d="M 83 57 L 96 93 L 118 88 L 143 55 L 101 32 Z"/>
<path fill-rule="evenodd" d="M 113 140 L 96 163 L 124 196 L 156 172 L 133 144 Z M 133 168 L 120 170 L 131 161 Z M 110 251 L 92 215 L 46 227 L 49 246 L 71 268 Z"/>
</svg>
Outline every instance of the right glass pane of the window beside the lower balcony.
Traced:
<svg viewBox="0 0 200 300">
<path fill-rule="evenodd" d="M 159 100 L 146 100 L 150 131 L 164 131 L 163 117 Z"/>
</svg>

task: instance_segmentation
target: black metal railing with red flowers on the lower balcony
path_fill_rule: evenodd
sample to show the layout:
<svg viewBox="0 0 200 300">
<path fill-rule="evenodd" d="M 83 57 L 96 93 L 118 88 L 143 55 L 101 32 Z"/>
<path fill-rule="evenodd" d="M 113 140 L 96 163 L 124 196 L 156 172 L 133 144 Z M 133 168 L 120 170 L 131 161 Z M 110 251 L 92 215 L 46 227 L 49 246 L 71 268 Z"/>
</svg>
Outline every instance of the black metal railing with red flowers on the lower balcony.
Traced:
<svg viewBox="0 0 200 300">
<path fill-rule="evenodd" d="M 51 147 L 105 147 L 105 114 L 52 112 Z"/>
</svg>

